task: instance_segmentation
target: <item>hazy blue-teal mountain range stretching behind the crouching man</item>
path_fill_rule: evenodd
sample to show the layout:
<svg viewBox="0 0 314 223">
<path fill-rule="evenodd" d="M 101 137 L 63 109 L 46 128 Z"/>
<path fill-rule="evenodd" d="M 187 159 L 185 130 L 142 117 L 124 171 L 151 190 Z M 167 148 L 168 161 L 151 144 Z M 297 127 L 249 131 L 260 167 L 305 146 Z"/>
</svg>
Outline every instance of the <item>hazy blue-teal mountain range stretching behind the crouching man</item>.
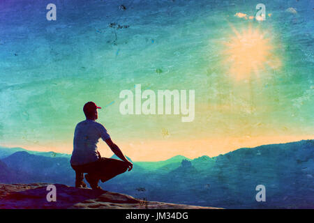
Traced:
<svg viewBox="0 0 314 223">
<path fill-rule="evenodd" d="M 133 162 L 132 171 L 100 186 L 139 199 L 195 206 L 314 208 L 313 148 L 314 140 L 303 140 L 239 148 L 217 157 Z M 1 147 L 0 157 L 0 183 L 74 185 L 68 154 Z M 265 202 L 255 199 L 257 185 L 266 188 Z"/>
</svg>

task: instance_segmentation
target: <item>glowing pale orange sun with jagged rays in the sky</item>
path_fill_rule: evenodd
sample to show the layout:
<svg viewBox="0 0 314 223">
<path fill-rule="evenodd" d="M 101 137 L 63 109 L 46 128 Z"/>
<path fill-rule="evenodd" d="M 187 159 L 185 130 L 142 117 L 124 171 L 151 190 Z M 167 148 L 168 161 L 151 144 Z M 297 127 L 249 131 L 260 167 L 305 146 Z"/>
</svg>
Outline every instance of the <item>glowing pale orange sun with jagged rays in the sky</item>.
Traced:
<svg viewBox="0 0 314 223">
<path fill-rule="evenodd" d="M 260 77 L 260 70 L 266 65 L 274 67 L 273 47 L 265 33 L 251 26 L 243 31 L 232 29 L 234 34 L 224 43 L 225 62 L 231 75 L 236 79 L 247 79 L 252 74 Z"/>
</svg>

